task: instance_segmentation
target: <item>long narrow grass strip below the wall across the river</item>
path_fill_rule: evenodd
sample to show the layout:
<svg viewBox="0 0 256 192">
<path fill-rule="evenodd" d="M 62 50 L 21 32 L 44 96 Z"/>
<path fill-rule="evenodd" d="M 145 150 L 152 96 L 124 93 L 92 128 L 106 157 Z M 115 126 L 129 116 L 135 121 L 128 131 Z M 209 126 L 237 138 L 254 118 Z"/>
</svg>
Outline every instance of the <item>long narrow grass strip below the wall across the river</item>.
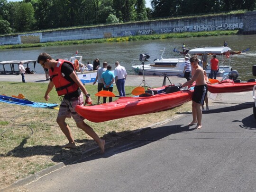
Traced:
<svg viewBox="0 0 256 192">
<path fill-rule="evenodd" d="M 190 38 L 190 37 L 208 37 L 219 35 L 235 35 L 238 30 L 233 31 L 210 31 L 210 32 L 194 32 L 194 33 L 165 33 L 165 34 L 152 34 L 152 35 L 135 35 L 127 37 L 116 37 L 108 39 L 90 39 L 90 40 L 74 40 L 64 42 L 46 42 L 46 43 L 32 43 L 32 44 L 18 44 L 18 45 L 2 45 L 0 50 L 16 49 L 27 47 L 47 47 L 47 46 L 60 46 L 60 45 L 78 45 L 78 44 L 91 44 L 91 43 L 106 43 L 106 42 L 129 42 L 129 41 L 142 41 L 142 40 L 155 40 L 155 39 L 172 39 L 172 38 Z"/>
</svg>

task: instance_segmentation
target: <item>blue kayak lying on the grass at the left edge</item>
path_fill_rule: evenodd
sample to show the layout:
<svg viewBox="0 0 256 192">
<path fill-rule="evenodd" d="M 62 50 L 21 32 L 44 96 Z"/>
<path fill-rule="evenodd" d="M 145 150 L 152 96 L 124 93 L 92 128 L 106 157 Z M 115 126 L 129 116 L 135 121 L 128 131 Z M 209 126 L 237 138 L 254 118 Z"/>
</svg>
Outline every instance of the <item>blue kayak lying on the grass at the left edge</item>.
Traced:
<svg viewBox="0 0 256 192">
<path fill-rule="evenodd" d="M 21 100 L 15 97 L 9 97 L 4 95 L 0 95 L 0 102 L 17 104 L 17 105 L 25 105 L 25 106 L 30 106 L 34 108 L 55 108 L 56 106 L 58 106 L 58 104 L 54 104 L 54 103 L 41 103 L 41 102 L 34 102 L 30 100 Z"/>
</svg>

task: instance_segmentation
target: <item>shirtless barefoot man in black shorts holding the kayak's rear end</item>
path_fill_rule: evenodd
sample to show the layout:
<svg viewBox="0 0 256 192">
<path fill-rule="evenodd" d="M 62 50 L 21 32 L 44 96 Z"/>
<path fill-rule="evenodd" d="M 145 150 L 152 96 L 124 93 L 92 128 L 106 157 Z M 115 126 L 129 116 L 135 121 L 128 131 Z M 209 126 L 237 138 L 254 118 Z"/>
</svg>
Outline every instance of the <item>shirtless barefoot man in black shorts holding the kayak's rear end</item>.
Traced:
<svg viewBox="0 0 256 192">
<path fill-rule="evenodd" d="M 192 84 L 194 81 L 196 82 L 194 87 L 194 93 L 192 97 L 192 117 L 193 120 L 190 125 L 196 124 L 195 129 L 200 129 L 202 127 L 201 120 L 202 120 L 202 112 L 201 112 L 201 104 L 204 102 L 204 98 L 207 94 L 208 88 L 207 83 L 204 78 L 204 73 L 202 67 L 198 65 L 198 58 L 197 56 L 192 56 L 190 58 L 191 66 L 193 68 L 193 76 L 191 80 L 187 81 L 186 83 L 182 84 L 182 87 L 188 86 Z"/>
</svg>

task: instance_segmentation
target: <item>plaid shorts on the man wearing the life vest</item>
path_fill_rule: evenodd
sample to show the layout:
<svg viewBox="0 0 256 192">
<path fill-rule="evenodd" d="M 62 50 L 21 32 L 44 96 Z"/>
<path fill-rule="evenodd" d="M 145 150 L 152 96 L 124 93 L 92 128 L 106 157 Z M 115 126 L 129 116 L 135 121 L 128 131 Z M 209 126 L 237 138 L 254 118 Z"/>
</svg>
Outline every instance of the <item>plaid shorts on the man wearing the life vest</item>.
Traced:
<svg viewBox="0 0 256 192">
<path fill-rule="evenodd" d="M 73 119 L 76 123 L 83 121 L 84 118 L 82 116 L 78 115 L 74 110 L 75 106 L 77 106 L 77 105 L 83 105 L 82 92 L 81 92 L 81 95 L 77 98 L 73 97 L 70 100 L 63 98 L 63 100 L 61 101 L 61 104 L 60 104 L 58 117 L 67 117 L 67 118 L 73 117 Z"/>
</svg>

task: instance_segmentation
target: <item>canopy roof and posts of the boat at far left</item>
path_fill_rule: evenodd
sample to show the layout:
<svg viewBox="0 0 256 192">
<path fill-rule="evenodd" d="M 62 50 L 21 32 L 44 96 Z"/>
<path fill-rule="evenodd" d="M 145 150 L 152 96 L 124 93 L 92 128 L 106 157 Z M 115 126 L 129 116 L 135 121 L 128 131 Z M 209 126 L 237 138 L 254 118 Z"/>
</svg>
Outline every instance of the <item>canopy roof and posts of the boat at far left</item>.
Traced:
<svg viewBox="0 0 256 192">
<path fill-rule="evenodd" d="M 33 64 L 34 64 L 34 69 L 35 69 L 35 67 L 36 67 L 36 62 L 37 62 L 37 60 L 0 61 L 0 65 L 3 66 L 3 71 L 2 71 L 1 73 L 3 73 L 3 74 L 17 74 L 17 73 L 19 73 L 18 69 L 16 69 L 15 66 L 18 67 L 20 61 L 23 63 L 23 65 L 27 64 L 27 67 L 28 67 L 28 64 L 29 64 L 29 63 L 33 63 Z M 5 69 L 5 65 L 10 65 L 10 71 L 7 71 L 7 70 Z"/>
</svg>

